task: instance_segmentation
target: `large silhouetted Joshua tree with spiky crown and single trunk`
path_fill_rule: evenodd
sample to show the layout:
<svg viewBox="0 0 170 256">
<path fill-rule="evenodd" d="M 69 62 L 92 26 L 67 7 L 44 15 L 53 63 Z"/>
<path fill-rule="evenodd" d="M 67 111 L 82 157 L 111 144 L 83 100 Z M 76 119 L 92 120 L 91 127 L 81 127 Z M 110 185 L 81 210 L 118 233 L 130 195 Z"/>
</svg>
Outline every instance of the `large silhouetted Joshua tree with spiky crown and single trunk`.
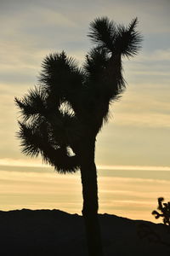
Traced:
<svg viewBox="0 0 170 256">
<path fill-rule="evenodd" d="M 137 19 L 117 26 L 107 17 L 90 24 L 94 48 L 82 68 L 65 52 L 42 61 L 37 86 L 15 102 L 20 108 L 22 152 L 42 155 L 57 172 L 80 170 L 83 207 L 91 256 L 103 255 L 98 220 L 98 184 L 94 163 L 96 136 L 108 117 L 109 105 L 125 88 L 122 57 L 138 53 Z"/>
</svg>

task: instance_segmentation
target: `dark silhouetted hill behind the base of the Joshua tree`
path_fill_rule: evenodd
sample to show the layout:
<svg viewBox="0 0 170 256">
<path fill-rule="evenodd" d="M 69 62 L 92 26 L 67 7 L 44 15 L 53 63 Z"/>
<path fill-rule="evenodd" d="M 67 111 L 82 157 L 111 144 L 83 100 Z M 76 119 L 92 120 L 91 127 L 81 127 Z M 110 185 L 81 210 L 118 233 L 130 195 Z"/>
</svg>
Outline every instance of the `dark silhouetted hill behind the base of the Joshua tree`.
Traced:
<svg viewBox="0 0 170 256">
<path fill-rule="evenodd" d="M 170 232 L 163 224 L 109 214 L 99 214 L 99 222 L 105 256 L 170 255 L 163 244 Z M 88 255 L 82 216 L 59 210 L 0 211 L 0 255 Z"/>
</svg>

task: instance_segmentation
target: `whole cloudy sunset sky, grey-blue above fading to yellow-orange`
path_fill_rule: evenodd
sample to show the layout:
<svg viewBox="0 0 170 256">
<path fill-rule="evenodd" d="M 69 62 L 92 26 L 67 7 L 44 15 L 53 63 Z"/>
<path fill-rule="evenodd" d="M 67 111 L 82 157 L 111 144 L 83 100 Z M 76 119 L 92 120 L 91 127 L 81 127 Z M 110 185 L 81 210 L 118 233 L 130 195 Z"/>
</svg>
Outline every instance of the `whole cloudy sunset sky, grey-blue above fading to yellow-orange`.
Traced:
<svg viewBox="0 0 170 256">
<path fill-rule="evenodd" d="M 97 137 L 99 212 L 144 218 L 170 201 L 170 2 L 168 0 L 0 0 L 0 210 L 59 208 L 81 213 L 80 173 L 61 176 L 20 152 L 14 96 L 37 84 L 43 58 L 65 52 L 81 66 L 89 23 L 138 17 L 142 49 L 123 59 L 127 90 Z"/>
</svg>

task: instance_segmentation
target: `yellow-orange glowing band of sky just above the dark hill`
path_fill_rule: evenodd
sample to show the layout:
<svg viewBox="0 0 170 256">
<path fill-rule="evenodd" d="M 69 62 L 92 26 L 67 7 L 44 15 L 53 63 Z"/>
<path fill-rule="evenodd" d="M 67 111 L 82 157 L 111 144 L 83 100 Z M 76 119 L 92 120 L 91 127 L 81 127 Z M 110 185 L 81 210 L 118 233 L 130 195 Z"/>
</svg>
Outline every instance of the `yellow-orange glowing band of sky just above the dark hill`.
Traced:
<svg viewBox="0 0 170 256">
<path fill-rule="evenodd" d="M 170 195 L 170 181 L 99 176 L 99 212 L 156 221 L 157 198 Z M 82 183 L 77 175 L 56 172 L 0 172 L 0 209 L 59 209 L 82 212 Z"/>
</svg>

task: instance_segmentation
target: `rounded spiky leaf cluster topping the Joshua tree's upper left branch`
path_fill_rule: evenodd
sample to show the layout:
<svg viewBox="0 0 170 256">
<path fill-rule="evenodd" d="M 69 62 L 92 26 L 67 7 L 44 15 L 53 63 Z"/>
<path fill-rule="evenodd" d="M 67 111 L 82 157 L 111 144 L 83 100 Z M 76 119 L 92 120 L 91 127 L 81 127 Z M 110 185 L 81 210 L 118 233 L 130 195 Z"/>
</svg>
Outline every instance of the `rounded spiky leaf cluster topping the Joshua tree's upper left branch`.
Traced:
<svg viewBox="0 0 170 256">
<path fill-rule="evenodd" d="M 65 52 L 46 56 L 42 62 L 42 73 L 39 77 L 40 83 L 56 96 L 65 96 L 70 90 L 81 88 L 83 74 L 77 62 L 68 57 Z"/>
</svg>

